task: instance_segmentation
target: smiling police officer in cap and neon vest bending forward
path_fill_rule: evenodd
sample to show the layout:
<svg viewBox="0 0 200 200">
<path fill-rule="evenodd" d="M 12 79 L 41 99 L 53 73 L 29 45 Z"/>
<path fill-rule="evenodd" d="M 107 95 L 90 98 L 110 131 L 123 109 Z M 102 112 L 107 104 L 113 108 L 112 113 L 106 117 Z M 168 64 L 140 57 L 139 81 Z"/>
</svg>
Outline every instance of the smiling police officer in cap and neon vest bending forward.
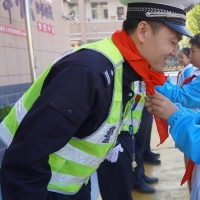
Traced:
<svg viewBox="0 0 200 200">
<path fill-rule="evenodd" d="M 191 37 L 185 3 L 122 3 L 129 3 L 123 30 L 63 54 L 1 123 L 4 200 L 89 200 L 88 179 L 131 107 L 129 84 L 143 79 L 153 93 L 165 82 L 166 60 L 182 35 Z"/>
</svg>

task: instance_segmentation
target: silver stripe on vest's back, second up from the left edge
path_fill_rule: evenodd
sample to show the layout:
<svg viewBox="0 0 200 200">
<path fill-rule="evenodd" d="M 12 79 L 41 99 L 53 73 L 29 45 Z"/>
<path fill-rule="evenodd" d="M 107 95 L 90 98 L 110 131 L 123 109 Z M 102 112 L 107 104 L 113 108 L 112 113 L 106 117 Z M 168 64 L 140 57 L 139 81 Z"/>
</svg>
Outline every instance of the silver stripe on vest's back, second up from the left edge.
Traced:
<svg viewBox="0 0 200 200">
<path fill-rule="evenodd" d="M 24 96 L 22 96 L 15 104 L 14 109 L 15 109 L 15 113 L 16 113 L 16 120 L 17 122 L 20 124 L 22 119 L 24 118 L 24 116 L 27 113 L 26 108 L 24 107 L 23 104 L 23 99 Z"/>
</svg>

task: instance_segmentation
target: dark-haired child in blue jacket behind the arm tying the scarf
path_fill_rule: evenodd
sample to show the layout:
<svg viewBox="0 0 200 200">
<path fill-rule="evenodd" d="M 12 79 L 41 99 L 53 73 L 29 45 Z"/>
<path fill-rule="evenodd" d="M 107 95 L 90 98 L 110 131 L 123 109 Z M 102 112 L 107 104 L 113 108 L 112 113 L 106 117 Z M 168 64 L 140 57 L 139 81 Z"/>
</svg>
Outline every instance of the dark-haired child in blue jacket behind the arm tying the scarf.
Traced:
<svg viewBox="0 0 200 200">
<path fill-rule="evenodd" d="M 194 109 L 200 107 L 200 34 L 196 34 L 194 38 L 190 39 L 190 44 L 191 63 L 196 67 L 190 75 L 192 79 L 180 87 L 172 84 L 168 78 L 164 85 L 156 86 L 155 89 L 172 102 Z"/>
</svg>

